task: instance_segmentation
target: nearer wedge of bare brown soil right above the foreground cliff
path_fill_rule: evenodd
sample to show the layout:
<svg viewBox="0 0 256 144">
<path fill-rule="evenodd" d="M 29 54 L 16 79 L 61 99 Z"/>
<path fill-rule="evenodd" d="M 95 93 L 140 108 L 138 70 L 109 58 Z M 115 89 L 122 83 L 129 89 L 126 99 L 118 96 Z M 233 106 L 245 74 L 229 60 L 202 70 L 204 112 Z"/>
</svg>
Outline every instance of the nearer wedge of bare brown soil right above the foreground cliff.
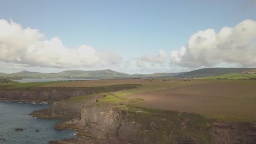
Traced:
<svg viewBox="0 0 256 144">
<path fill-rule="evenodd" d="M 143 98 L 144 107 L 214 115 L 256 117 L 255 86 L 230 83 L 197 85 L 132 94 Z"/>
</svg>

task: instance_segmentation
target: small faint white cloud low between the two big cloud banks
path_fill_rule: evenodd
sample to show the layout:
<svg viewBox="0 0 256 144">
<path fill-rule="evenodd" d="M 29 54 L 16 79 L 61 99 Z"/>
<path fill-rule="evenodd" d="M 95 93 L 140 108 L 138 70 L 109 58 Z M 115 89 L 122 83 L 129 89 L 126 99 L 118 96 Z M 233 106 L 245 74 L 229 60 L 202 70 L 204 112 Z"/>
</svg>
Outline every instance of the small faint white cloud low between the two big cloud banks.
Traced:
<svg viewBox="0 0 256 144">
<path fill-rule="evenodd" d="M 164 50 L 160 50 L 158 55 L 143 55 L 137 58 L 137 67 L 146 67 L 148 64 L 155 65 L 165 65 L 167 59 L 167 53 Z"/>
</svg>

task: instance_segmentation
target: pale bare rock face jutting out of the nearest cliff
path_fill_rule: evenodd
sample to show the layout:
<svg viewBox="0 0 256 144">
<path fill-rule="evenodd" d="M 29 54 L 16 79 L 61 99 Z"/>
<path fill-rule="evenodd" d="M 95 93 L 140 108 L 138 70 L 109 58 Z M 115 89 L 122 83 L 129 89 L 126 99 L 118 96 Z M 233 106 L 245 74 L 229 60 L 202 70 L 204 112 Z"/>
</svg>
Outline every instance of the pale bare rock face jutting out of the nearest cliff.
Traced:
<svg viewBox="0 0 256 144">
<path fill-rule="evenodd" d="M 56 129 L 75 129 L 78 135 L 96 139 L 140 141 L 137 136 L 142 124 L 125 117 L 125 112 L 110 107 L 84 107 L 80 119 L 59 123 Z"/>
</svg>

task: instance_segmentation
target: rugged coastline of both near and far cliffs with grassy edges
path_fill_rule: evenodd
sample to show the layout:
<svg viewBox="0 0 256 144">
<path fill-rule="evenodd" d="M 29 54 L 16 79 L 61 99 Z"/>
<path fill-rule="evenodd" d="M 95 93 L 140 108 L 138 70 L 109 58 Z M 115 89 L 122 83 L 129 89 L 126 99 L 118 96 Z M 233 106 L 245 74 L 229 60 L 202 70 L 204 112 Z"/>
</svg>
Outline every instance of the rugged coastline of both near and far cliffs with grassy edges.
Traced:
<svg viewBox="0 0 256 144">
<path fill-rule="evenodd" d="M 254 123 L 207 118 L 197 113 L 144 108 L 139 106 L 143 99 L 127 99 L 116 95 L 118 91 L 126 93 L 124 90 L 137 87 L 141 85 L 94 88 L 33 87 L 1 91 L 0 97 L 8 94 L 5 100 L 12 100 L 8 98 L 18 93 L 20 96 L 15 97 L 16 99 L 31 98 L 24 100 L 25 103 L 34 101 L 35 98 L 40 103 L 43 102 L 40 100 L 49 95 L 51 98 L 54 95 L 55 98 L 61 98 L 55 99 L 49 108 L 30 114 L 45 119 L 66 118 L 67 121 L 55 124 L 54 129 L 68 129 L 77 133 L 75 139 L 49 143 L 232 144 L 245 140 L 250 144 L 256 142 Z M 21 102 L 22 99 L 14 101 Z"/>
</svg>

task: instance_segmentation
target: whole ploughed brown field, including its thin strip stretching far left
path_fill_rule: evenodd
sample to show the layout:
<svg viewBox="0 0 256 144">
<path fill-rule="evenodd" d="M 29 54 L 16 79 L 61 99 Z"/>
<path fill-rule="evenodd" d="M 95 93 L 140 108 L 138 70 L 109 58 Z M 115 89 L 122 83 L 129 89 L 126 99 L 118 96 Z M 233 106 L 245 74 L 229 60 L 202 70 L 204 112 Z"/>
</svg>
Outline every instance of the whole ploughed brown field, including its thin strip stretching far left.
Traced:
<svg viewBox="0 0 256 144">
<path fill-rule="evenodd" d="M 115 94 L 143 98 L 143 107 L 256 118 L 256 80 L 91 80 L 44 86 L 95 87 L 125 83 L 142 87 Z"/>
</svg>

